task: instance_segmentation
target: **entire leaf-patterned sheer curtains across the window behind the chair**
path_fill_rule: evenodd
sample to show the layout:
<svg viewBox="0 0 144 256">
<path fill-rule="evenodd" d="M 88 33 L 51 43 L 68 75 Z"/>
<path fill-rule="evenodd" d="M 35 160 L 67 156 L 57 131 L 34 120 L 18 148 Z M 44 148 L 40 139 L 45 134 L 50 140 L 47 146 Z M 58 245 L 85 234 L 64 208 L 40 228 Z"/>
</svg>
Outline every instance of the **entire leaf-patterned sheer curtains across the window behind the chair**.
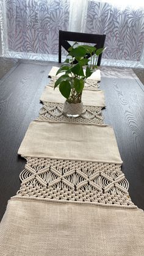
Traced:
<svg viewBox="0 0 144 256">
<path fill-rule="evenodd" d="M 140 0 L 0 0 L 0 14 L 2 56 L 57 61 L 62 29 L 106 34 L 104 65 L 143 67 Z"/>
</svg>

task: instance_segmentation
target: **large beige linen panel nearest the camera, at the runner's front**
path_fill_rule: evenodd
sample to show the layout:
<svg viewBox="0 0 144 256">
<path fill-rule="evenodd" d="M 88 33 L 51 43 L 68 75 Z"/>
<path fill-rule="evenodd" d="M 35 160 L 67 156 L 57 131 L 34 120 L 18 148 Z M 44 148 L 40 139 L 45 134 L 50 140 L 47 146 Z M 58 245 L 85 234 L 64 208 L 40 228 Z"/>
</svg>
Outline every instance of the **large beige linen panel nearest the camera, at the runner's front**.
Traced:
<svg viewBox="0 0 144 256">
<path fill-rule="evenodd" d="M 0 224 L 2 256 L 144 255 L 142 210 L 11 199 Z"/>
</svg>

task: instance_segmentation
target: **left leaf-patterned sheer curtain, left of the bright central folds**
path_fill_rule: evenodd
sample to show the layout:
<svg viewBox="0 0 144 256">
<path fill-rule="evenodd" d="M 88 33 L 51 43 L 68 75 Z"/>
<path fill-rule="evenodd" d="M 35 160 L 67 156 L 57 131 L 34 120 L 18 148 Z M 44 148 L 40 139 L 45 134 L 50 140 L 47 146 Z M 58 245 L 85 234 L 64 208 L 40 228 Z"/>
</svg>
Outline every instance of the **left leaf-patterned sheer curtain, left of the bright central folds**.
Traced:
<svg viewBox="0 0 144 256">
<path fill-rule="evenodd" d="M 57 60 L 59 29 L 68 30 L 69 0 L 0 0 L 2 54 Z"/>
</svg>

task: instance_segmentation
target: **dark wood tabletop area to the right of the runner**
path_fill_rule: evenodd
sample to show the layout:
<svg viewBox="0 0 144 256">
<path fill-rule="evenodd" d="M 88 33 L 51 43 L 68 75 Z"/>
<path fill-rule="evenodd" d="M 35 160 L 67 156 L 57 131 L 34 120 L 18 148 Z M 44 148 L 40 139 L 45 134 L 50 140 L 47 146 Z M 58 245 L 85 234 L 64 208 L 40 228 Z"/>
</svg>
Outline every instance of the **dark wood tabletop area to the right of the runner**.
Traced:
<svg viewBox="0 0 144 256">
<path fill-rule="evenodd" d="M 144 87 L 137 77 L 103 77 L 106 97 L 105 121 L 112 125 L 123 160 L 122 170 L 129 181 L 129 194 L 144 209 Z"/>
</svg>

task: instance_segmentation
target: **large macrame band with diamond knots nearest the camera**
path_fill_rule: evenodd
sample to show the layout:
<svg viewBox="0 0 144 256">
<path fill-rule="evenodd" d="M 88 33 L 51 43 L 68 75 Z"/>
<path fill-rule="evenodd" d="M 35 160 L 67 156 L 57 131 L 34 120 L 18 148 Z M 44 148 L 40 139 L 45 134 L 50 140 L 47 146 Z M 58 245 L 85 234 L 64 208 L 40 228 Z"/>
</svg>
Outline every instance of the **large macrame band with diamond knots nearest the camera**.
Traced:
<svg viewBox="0 0 144 256">
<path fill-rule="evenodd" d="M 120 164 L 29 157 L 18 196 L 134 205 Z"/>
</svg>

